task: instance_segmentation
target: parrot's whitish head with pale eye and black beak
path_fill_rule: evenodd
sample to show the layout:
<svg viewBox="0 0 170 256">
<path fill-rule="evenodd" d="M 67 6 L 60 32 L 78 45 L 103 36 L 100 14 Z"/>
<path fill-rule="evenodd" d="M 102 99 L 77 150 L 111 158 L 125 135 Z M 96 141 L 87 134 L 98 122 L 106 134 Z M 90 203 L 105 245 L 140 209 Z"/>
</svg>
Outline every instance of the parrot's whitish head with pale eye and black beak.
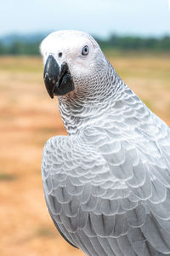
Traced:
<svg viewBox="0 0 170 256">
<path fill-rule="evenodd" d="M 104 82 L 110 63 L 88 33 L 53 32 L 43 39 L 40 50 L 43 79 L 51 98 L 71 93 L 89 96 L 100 91 L 99 84 Z"/>
</svg>

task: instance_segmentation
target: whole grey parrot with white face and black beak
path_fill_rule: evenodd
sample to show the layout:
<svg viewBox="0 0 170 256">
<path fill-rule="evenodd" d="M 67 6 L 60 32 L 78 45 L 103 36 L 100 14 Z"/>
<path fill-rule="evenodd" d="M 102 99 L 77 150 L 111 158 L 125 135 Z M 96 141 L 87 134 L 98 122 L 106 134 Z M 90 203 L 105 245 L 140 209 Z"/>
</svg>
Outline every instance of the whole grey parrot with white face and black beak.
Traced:
<svg viewBox="0 0 170 256">
<path fill-rule="evenodd" d="M 88 256 L 170 255 L 170 129 L 88 33 L 42 41 L 44 82 L 68 136 L 42 155 L 48 211 Z"/>
</svg>

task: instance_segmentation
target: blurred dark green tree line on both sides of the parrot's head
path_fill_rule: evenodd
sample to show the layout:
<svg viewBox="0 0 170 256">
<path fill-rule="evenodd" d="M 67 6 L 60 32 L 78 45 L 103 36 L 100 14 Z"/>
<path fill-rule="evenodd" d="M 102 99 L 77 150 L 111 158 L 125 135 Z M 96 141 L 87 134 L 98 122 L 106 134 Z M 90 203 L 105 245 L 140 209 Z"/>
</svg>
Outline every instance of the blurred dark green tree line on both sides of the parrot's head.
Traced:
<svg viewBox="0 0 170 256">
<path fill-rule="evenodd" d="M 39 55 L 39 44 L 46 35 L 11 35 L 0 38 L 0 55 Z M 96 38 L 102 49 L 150 50 L 155 52 L 170 52 L 170 36 L 163 38 L 139 38 L 133 36 L 111 35 L 110 38 Z"/>
</svg>

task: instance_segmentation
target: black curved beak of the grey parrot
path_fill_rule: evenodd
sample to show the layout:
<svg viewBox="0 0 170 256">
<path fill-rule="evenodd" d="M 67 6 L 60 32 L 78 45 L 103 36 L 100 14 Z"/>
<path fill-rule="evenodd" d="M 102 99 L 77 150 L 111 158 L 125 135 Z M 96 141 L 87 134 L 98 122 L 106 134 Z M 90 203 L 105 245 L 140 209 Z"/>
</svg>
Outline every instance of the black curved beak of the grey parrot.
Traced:
<svg viewBox="0 0 170 256">
<path fill-rule="evenodd" d="M 55 61 L 53 55 L 49 55 L 46 61 L 43 80 L 51 98 L 54 95 L 62 96 L 74 90 L 74 82 L 67 63 L 63 63 L 59 68 L 59 64 Z"/>
</svg>

